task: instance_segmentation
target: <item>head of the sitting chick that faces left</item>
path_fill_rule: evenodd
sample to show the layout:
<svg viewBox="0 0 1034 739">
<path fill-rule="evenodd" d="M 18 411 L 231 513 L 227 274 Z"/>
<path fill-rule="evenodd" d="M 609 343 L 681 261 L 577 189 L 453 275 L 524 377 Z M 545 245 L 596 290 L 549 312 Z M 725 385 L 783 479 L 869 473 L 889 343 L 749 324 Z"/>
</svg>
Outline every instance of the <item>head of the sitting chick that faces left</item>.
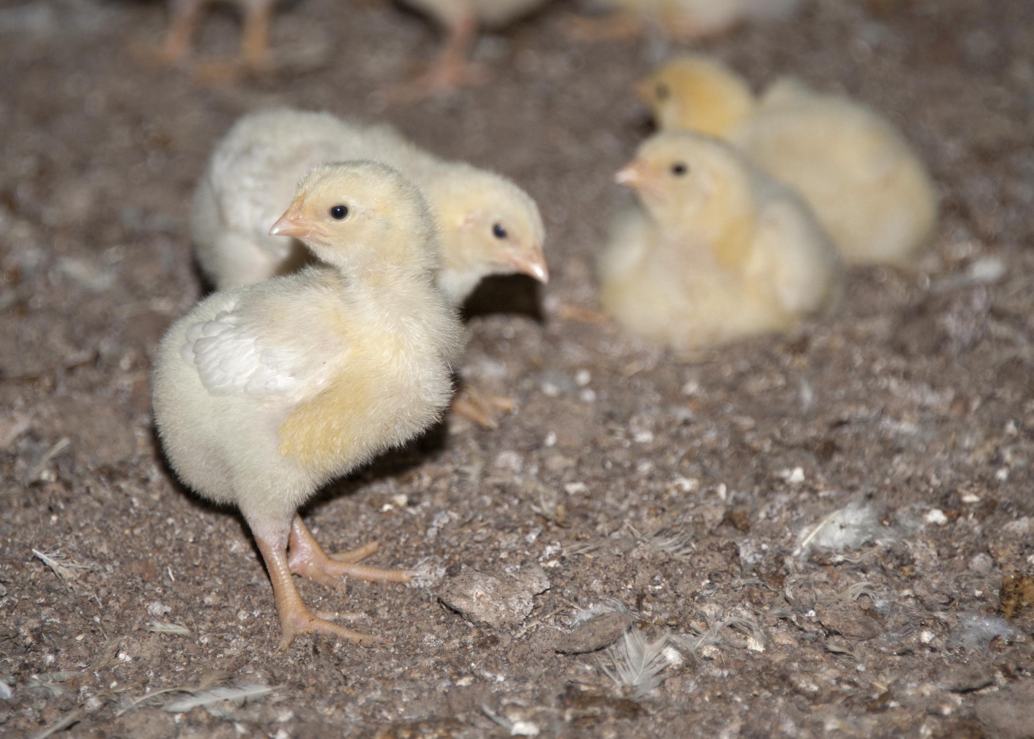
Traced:
<svg viewBox="0 0 1034 739">
<path fill-rule="evenodd" d="M 661 131 L 614 175 L 633 188 L 660 229 L 739 263 L 754 228 L 752 170 L 731 146 L 689 131 Z"/>
</svg>

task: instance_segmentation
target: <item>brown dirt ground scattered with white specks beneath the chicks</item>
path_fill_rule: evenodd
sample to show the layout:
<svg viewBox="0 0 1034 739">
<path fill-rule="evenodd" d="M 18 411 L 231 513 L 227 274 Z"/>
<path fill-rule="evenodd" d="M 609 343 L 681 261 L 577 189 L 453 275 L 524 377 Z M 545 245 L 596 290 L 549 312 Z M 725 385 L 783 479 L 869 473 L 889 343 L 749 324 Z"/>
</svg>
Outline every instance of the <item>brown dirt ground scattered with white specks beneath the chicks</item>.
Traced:
<svg viewBox="0 0 1034 739">
<path fill-rule="evenodd" d="M 294 66 L 217 87 L 132 51 L 161 3 L 0 8 L 0 735 L 1034 736 L 1034 5 L 815 0 L 701 45 L 755 84 L 792 72 L 885 112 L 943 221 L 914 270 L 853 271 L 840 317 L 692 357 L 578 320 L 629 199 L 611 174 L 648 131 L 632 84 L 670 50 L 572 43 L 570 10 L 485 37 L 491 84 L 385 107 L 436 36 L 381 0 L 285 7 Z M 237 29 L 213 11 L 202 54 Z M 299 584 L 383 647 L 274 653 L 246 528 L 153 436 L 156 344 L 202 295 L 192 185 L 270 105 L 391 121 L 512 176 L 547 225 L 550 285 L 488 286 L 469 320 L 463 377 L 518 411 L 451 419 L 304 510 L 328 546 L 373 537 L 372 563 L 421 566 L 410 586 Z M 851 503 L 875 515 L 860 543 L 800 551 Z M 548 589 L 506 623 L 439 599 L 512 572 Z M 645 694 L 606 652 L 557 651 L 608 599 L 675 640 Z M 211 685 L 275 689 L 163 710 Z"/>
</svg>

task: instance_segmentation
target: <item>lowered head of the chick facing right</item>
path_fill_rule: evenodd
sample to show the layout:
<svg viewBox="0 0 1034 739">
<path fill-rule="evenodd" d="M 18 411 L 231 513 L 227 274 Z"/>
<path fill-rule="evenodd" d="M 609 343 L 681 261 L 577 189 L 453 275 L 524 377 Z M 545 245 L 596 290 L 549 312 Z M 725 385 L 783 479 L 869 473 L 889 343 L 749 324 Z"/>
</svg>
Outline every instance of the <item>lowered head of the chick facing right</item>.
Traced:
<svg viewBox="0 0 1034 739">
<path fill-rule="evenodd" d="M 429 186 L 442 223 L 445 270 L 465 297 L 489 274 L 526 274 L 549 280 L 543 250 L 545 227 L 535 201 L 505 177 L 455 166 Z M 458 293 L 458 294 L 457 294 Z"/>
</svg>

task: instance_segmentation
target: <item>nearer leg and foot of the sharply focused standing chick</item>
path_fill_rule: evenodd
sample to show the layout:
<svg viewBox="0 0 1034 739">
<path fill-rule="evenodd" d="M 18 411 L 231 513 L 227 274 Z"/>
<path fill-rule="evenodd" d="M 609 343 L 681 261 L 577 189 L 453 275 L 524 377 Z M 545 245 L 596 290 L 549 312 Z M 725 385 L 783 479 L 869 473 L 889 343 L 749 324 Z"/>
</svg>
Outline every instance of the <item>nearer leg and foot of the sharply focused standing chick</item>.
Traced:
<svg viewBox="0 0 1034 739">
<path fill-rule="evenodd" d="M 250 522 L 249 522 L 250 523 Z M 291 577 L 287 564 L 287 529 L 284 527 L 251 526 L 258 551 L 266 561 L 269 579 L 273 584 L 273 599 L 276 601 L 276 613 L 280 617 L 280 644 L 277 651 L 282 652 L 295 637 L 300 633 L 326 633 L 339 637 L 357 644 L 374 644 L 383 641 L 377 637 L 359 633 L 352 629 L 338 626 L 318 618 L 309 611 L 298 594 L 295 582 Z"/>
</svg>

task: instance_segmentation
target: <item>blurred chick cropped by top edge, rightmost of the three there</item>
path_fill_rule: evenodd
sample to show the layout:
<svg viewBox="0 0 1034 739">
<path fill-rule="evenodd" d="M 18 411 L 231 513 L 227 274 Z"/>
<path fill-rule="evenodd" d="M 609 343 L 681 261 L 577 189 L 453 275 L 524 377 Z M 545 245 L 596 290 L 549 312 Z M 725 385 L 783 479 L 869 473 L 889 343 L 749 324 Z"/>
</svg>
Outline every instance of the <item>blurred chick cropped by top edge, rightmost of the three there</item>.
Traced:
<svg viewBox="0 0 1034 739">
<path fill-rule="evenodd" d="M 669 38 L 682 41 L 716 36 L 741 21 L 787 18 L 801 0 L 599 0 L 609 11 L 600 19 L 578 18 L 572 35 L 603 40 L 641 34 L 657 26 Z"/>
</svg>

